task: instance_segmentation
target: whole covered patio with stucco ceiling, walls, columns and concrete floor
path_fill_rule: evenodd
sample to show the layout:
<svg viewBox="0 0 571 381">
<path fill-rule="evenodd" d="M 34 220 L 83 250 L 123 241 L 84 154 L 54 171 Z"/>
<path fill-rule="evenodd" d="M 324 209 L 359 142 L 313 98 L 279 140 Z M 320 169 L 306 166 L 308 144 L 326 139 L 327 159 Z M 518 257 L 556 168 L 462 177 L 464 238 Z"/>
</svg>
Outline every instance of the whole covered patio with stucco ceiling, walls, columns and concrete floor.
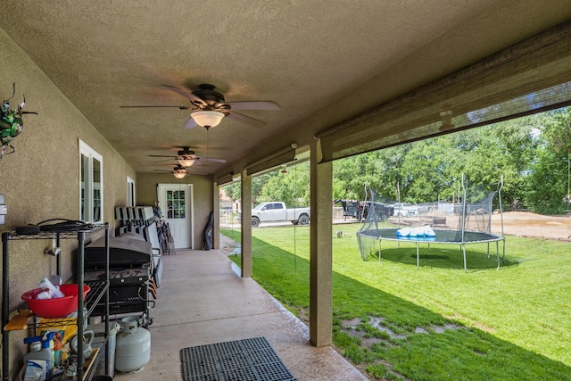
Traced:
<svg viewBox="0 0 571 381">
<path fill-rule="evenodd" d="M 4 3 L 2 99 L 33 113 L 24 129 L 10 125 L 4 145 L 0 230 L 54 218 L 118 228 L 117 206 L 167 204 L 159 185 L 194 200 L 178 235 L 194 241 L 164 261 L 151 363 L 120 377 L 179 379 L 181 348 L 264 335 L 294 377 L 360 379 L 329 346 L 332 162 L 571 104 L 565 0 Z M 204 85 L 216 94 L 194 94 Z M 205 99 L 232 116 L 197 124 L 199 109 L 211 111 Z M 202 160 L 183 169 L 188 156 Z M 249 224 L 240 275 L 218 250 L 191 250 L 219 214 L 219 186 L 241 182 L 249 221 L 252 177 L 303 160 L 310 329 L 250 278 Z M 218 248 L 218 220 L 212 231 Z M 81 272 L 76 249 L 62 246 L 70 282 Z M 12 251 L 19 281 L 3 279 L 4 323 L 37 277 L 55 272 L 45 251 L 40 242 Z M 4 335 L 3 348 L 9 381 L 28 348 L 16 335 Z"/>
</svg>

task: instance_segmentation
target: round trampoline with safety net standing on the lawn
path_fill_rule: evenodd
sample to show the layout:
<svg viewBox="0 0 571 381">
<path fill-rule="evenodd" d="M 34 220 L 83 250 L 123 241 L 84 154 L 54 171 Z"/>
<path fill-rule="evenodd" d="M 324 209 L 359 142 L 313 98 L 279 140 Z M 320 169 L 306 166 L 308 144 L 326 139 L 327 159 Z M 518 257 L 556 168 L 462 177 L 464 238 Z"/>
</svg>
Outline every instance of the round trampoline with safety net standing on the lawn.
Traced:
<svg viewBox="0 0 571 381">
<path fill-rule="evenodd" d="M 430 244 L 458 244 L 464 260 L 464 270 L 468 271 L 466 246 L 469 244 L 487 244 L 487 255 L 490 258 L 490 244 L 496 243 L 495 261 L 500 269 L 501 261 L 505 261 L 506 245 L 503 236 L 503 219 L 501 219 L 501 235 L 492 234 L 492 204 L 494 197 L 498 197 L 498 208 L 501 216 L 501 187 L 500 183 L 490 186 L 467 186 L 466 179 L 462 176 L 462 195 L 457 203 L 425 203 L 418 205 L 414 217 L 404 219 L 407 226 L 417 225 L 418 227 L 430 227 L 430 234 L 423 235 L 420 228 L 401 228 L 401 219 L 398 219 L 398 228 L 379 228 L 377 213 L 368 213 L 367 219 L 357 232 L 360 254 L 363 261 L 368 260 L 368 255 L 378 253 L 378 261 L 381 263 L 383 241 L 394 241 L 401 244 L 415 244 L 417 248 L 417 269 L 420 267 L 420 245 L 426 244 L 430 249 Z M 495 187 L 491 189 L 491 187 Z M 369 190 L 371 198 L 381 199 L 378 195 Z M 374 200 L 372 200 L 374 201 Z M 442 220 L 458 219 L 457 228 L 436 228 L 442 225 Z M 432 221 L 432 223 L 430 222 Z M 438 221 L 438 222 L 436 222 Z M 444 225 L 446 223 L 444 222 Z M 434 228 L 434 230 L 432 229 Z M 418 235 L 410 234 L 403 236 L 405 231 L 417 230 Z M 500 242 L 502 250 L 500 253 Z M 501 257 L 501 258 L 500 258 Z"/>
</svg>

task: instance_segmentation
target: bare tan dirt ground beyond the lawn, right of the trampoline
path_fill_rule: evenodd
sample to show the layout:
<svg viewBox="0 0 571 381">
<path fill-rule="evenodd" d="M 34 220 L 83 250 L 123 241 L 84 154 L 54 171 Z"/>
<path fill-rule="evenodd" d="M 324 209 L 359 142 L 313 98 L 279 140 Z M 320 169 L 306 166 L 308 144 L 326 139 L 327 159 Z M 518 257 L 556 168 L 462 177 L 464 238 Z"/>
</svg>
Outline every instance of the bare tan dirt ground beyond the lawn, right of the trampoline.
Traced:
<svg viewBox="0 0 571 381">
<path fill-rule="evenodd" d="M 571 242 L 571 216 L 543 216 L 529 211 L 507 211 L 492 215 L 492 233 L 529 236 Z"/>
</svg>

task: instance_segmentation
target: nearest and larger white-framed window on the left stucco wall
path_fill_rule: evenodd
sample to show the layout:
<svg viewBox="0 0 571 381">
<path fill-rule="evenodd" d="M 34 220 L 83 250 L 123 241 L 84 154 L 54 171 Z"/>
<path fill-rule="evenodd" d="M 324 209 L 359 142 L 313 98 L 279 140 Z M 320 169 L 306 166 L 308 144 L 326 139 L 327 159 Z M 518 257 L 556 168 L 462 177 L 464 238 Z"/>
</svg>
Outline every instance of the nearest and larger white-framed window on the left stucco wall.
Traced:
<svg viewBox="0 0 571 381">
<path fill-rule="evenodd" d="M 103 156 L 79 140 L 79 219 L 103 223 Z"/>
</svg>

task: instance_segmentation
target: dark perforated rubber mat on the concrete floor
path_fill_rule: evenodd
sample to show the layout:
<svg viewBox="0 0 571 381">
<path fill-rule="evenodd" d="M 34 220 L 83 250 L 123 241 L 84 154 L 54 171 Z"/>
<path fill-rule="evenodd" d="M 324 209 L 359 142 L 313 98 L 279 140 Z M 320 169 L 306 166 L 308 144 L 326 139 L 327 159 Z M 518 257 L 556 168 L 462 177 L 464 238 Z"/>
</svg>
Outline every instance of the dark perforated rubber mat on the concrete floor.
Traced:
<svg viewBox="0 0 571 381">
<path fill-rule="evenodd" d="M 265 337 L 180 350 L 185 381 L 297 381 Z"/>
</svg>

